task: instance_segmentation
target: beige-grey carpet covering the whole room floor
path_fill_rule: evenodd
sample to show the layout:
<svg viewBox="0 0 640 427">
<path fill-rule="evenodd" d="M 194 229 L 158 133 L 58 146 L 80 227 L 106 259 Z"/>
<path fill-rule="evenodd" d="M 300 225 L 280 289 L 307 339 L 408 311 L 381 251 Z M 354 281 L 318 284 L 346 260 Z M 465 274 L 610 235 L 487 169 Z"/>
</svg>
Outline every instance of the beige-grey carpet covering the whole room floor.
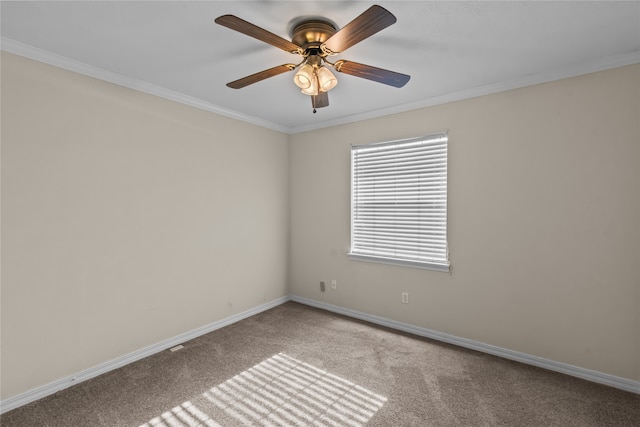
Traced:
<svg viewBox="0 0 640 427">
<path fill-rule="evenodd" d="M 639 426 L 640 396 L 289 302 L 10 426 Z"/>
</svg>

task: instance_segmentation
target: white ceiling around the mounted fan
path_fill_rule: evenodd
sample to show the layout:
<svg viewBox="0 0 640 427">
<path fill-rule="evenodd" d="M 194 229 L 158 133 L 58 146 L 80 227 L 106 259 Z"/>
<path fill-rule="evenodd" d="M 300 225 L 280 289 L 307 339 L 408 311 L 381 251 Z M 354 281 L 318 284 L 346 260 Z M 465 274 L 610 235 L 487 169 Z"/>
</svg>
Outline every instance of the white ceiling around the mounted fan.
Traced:
<svg viewBox="0 0 640 427">
<path fill-rule="evenodd" d="M 217 25 L 233 14 L 290 39 L 290 23 L 343 27 L 363 1 L 2 1 L 2 49 L 296 133 L 640 62 L 640 2 L 382 1 L 397 23 L 334 59 L 411 75 L 397 89 L 337 74 L 312 113 L 285 73 L 227 82 L 297 56 Z"/>
</svg>

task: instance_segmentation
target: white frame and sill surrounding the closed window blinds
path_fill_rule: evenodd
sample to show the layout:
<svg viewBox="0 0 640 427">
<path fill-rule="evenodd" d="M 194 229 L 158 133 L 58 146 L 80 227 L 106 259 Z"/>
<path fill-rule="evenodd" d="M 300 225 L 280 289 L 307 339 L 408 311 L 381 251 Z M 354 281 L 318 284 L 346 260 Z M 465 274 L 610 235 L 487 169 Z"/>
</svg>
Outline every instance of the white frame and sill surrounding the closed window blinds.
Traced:
<svg viewBox="0 0 640 427">
<path fill-rule="evenodd" d="M 429 260 L 424 257 L 422 259 L 417 259 L 415 257 L 412 258 L 412 257 L 406 257 L 406 256 L 405 257 L 389 256 L 389 254 L 380 254 L 380 253 L 376 254 L 375 251 L 371 253 L 372 251 L 371 248 L 365 251 L 363 251 L 362 248 L 360 249 L 357 248 L 357 245 L 355 244 L 355 238 L 356 237 L 362 238 L 362 235 L 358 234 L 358 236 L 356 236 L 357 233 L 355 232 L 355 225 L 357 223 L 356 212 L 355 212 L 356 193 L 357 193 L 356 182 L 355 182 L 356 167 L 357 167 L 356 160 L 355 160 L 356 154 L 362 153 L 363 151 L 367 151 L 367 150 L 374 151 L 375 149 L 378 149 L 378 148 L 384 150 L 384 147 L 393 146 L 397 148 L 395 152 L 397 155 L 398 153 L 401 153 L 402 149 L 406 149 L 407 146 L 411 146 L 411 145 L 421 146 L 421 147 L 426 147 L 425 150 L 428 150 L 429 149 L 428 147 L 430 145 L 431 146 L 442 145 L 443 142 L 444 142 L 444 154 L 443 155 L 441 154 L 440 157 L 438 157 L 439 160 L 444 160 L 444 168 L 445 168 L 444 177 L 438 181 L 439 185 L 444 185 L 444 200 L 440 198 L 438 202 L 440 203 L 440 205 L 442 205 L 442 203 L 444 204 L 444 214 L 438 217 L 438 219 L 440 221 L 443 221 L 443 224 L 444 224 L 444 239 L 443 239 L 444 241 L 440 240 L 439 245 L 436 245 L 441 248 L 442 243 L 444 243 L 444 250 L 442 251 L 442 249 L 440 249 L 441 250 L 440 257 L 437 259 L 432 258 Z M 449 163 L 448 146 L 449 146 L 448 132 L 433 133 L 433 134 L 424 135 L 416 138 L 402 139 L 402 140 L 396 140 L 396 141 L 386 141 L 386 142 L 369 143 L 369 144 L 353 144 L 351 146 L 350 244 L 349 244 L 349 252 L 347 253 L 347 257 L 349 259 L 355 260 L 355 261 L 367 261 L 367 262 L 374 262 L 374 263 L 399 265 L 399 266 L 405 266 L 405 267 L 422 268 L 422 269 L 442 271 L 442 272 L 451 271 L 451 262 L 449 260 L 449 245 L 448 245 L 448 163 Z M 391 164 L 391 161 L 388 161 L 388 162 L 389 164 Z M 435 167 L 433 166 L 427 167 L 426 170 L 429 170 L 429 169 L 433 170 L 434 168 Z M 414 188 L 414 187 L 411 187 L 411 188 Z M 362 191 L 362 187 L 358 187 L 358 190 Z M 442 197 L 442 195 L 440 195 L 440 197 Z M 421 209 L 418 209 L 418 211 L 421 211 Z M 396 218 L 395 213 L 393 217 Z M 398 249 L 402 250 L 405 247 L 407 246 L 399 245 Z M 356 250 L 354 250 L 354 248 Z M 422 254 L 424 255 L 424 252 L 422 252 Z"/>
</svg>

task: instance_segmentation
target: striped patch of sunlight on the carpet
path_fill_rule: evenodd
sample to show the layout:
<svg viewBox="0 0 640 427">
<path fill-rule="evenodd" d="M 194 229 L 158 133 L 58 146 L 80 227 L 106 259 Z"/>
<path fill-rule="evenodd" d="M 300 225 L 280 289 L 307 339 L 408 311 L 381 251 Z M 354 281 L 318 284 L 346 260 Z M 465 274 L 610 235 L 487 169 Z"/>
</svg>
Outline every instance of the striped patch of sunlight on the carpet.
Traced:
<svg viewBox="0 0 640 427">
<path fill-rule="evenodd" d="M 238 425 L 364 426 L 387 399 L 351 381 L 279 353 L 140 427 Z M 221 418 L 222 417 L 222 418 Z"/>
</svg>

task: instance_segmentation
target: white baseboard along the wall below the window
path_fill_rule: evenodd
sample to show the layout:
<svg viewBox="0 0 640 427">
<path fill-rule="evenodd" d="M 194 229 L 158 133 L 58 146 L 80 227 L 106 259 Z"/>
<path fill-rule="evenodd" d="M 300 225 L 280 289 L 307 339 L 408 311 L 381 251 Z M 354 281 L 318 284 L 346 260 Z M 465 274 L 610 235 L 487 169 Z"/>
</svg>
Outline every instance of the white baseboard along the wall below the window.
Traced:
<svg viewBox="0 0 640 427">
<path fill-rule="evenodd" d="M 460 347 L 469 348 L 472 350 L 481 351 L 483 353 L 492 354 L 494 356 L 503 357 L 505 359 L 514 360 L 516 362 L 526 363 L 528 365 L 537 366 L 540 368 L 548 369 L 550 371 L 560 372 L 562 374 L 570 375 L 572 377 L 582 378 L 587 381 L 592 381 L 599 384 L 605 384 L 611 387 L 618 388 L 620 390 L 629 391 L 631 393 L 640 394 L 640 381 L 633 381 L 627 378 L 617 377 L 615 375 L 609 375 L 598 371 L 592 371 L 590 369 L 581 368 L 579 366 L 569 365 L 567 363 L 556 362 L 551 359 L 545 359 L 543 357 L 533 356 L 519 351 L 509 350 L 507 348 L 497 347 L 491 344 L 485 344 L 479 341 L 470 340 L 467 338 L 460 338 L 455 335 L 445 334 L 443 332 L 433 331 L 431 329 L 421 328 L 419 326 L 409 325 L 407 323 L 397 322 L 395 320 L 387 319 L 384 317 L 374 316 L 360 311 L 351 310 L 348 308 L 327 304 L 308 298 L 299 296 L 291 296 L 291 300 L 300 304 L 305 304 L 311 307 L 320 308 L 323 310 L 331 311 L 334 313 L 342 314 L 345 316 L 353 317 L 355 319 L 364 320 L 367 322 L 375 323 L 377 325 L 386 326 L 388 328 L 396 329 L 403 332 L 408 332 L 414 335 L 418 335 L 425 338 L 431 338 L 437 341 L 454 344 Z"/>
</svg>

